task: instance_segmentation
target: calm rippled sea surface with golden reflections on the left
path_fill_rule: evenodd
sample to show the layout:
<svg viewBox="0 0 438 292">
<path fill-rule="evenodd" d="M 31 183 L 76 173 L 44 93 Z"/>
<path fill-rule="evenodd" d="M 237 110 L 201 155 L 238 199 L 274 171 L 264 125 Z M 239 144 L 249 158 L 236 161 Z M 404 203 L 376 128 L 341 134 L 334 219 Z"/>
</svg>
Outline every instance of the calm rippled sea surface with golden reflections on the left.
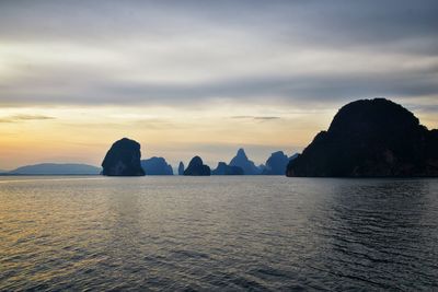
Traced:
<svg viewBox="0 0 438 292">
<path fill-rule="evenodd" d="M 438 290 L 438 179 L 0 177 L 0 290 Z"/>
</svg>

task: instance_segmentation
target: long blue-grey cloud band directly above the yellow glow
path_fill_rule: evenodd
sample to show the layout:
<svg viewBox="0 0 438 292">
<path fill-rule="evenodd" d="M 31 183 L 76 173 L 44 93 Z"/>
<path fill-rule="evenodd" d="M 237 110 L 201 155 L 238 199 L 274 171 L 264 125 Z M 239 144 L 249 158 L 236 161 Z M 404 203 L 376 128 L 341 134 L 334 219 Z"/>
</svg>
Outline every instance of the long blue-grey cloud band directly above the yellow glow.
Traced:
<svg viewBox="0 0 438 292">
<path fill-rule="evenodd" d="M 85 81 L 84 81 L 85 82 Z M 55 82 L 57 83 L 57 82 Z M 354 98 L 388 96 L 410 97 L 438 95 L 436 73 L 411 70 L 383 73 L 337 73 L 308 75 L 243 77 L 195 84 L 143 83 L 101 80 L 84 87 L 27 85 L 3 89 L 9 97 L 3 105 L 81 104 L 81 105 L 165 105 L 194 106 L 214 101 L 251 104 L 289 104 L 312 106 L 314 103 L 339 103 Z"/>
</svg>

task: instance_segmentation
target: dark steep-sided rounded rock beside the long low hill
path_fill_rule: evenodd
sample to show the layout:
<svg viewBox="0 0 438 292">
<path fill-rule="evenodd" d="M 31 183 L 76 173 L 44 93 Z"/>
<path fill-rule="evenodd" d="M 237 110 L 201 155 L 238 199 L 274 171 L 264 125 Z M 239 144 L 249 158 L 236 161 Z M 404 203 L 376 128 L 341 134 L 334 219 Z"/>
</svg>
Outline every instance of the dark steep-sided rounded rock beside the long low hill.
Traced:
<svg viewBox="0 0 438 292">
<path fill-rule="evenodd" d="M 145 175 L 140 164 L 140 144 L 123 138 L 116 141 L 102 162 L 102 174 L 108 176 L 141 176 Z"/>
</svg>

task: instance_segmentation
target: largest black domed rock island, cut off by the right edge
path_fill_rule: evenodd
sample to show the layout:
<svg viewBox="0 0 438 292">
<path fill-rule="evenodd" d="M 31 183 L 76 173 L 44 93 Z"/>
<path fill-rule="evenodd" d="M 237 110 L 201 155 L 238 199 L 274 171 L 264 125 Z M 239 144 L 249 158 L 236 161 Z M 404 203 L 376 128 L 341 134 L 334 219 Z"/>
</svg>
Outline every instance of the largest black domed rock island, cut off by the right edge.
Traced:
<svg viewBox="0 0 438 292">
<path fill-rule="evenodd" d="M 288 176 L 438 176 L 438 130 L 384 98 L 357 101 L 288 165 Z"/>
</svg>

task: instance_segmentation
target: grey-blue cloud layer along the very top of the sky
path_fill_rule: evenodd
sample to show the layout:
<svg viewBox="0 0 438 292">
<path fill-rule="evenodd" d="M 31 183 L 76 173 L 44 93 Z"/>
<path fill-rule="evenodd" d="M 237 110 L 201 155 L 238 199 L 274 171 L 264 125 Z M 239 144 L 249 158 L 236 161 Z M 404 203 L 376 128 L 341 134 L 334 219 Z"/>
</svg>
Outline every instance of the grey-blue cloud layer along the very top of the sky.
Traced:
<svg viewBox="0 0 438 292">
<path fill-rule="evenodd" d="M 0 34 L 11 38 L 177 36 L 211 27 L 343 43 L 382 43 L 436 35 L 435 0 L 1 1 Z M 66 10 L 69 13 L 64 13 Z"/>
</svg>

